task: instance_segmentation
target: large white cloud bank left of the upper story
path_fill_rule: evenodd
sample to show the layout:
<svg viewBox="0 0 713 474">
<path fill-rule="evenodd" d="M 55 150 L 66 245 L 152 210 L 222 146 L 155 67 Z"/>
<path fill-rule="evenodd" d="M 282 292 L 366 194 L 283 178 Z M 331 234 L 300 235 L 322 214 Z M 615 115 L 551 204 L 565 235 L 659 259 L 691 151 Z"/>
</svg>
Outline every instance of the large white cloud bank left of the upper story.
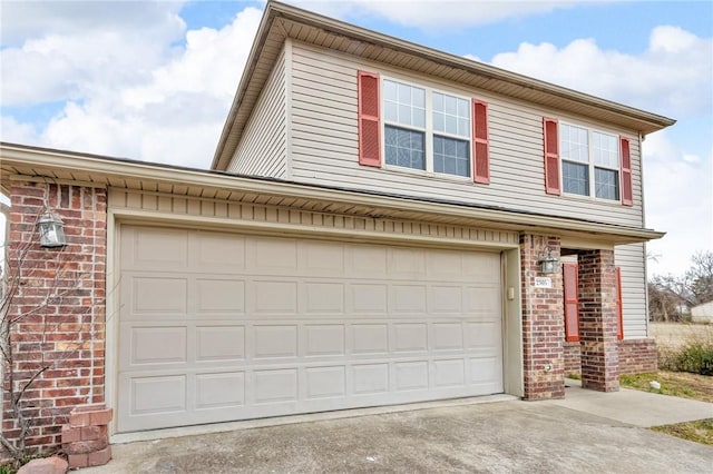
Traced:
<svg viewBox="0 0 713 474">
<path fill-rule="evenodd" d="M 76 31 L 6 49 L 3 61 L 18 69 L 8 83 L 3 75 L 3 106 L 69 101 L 40 132 L 2 117 L 2 139 L 208 167 L 261 16 L 246 8 L 219 30 L 160 40 Z M 176 40 L 185 47 L 172 47 Z M 32 55 L 39 55 L 35 63 L 27 60 Z M 42 77 L 52 58 L 57 66 Z"/>
</svg>

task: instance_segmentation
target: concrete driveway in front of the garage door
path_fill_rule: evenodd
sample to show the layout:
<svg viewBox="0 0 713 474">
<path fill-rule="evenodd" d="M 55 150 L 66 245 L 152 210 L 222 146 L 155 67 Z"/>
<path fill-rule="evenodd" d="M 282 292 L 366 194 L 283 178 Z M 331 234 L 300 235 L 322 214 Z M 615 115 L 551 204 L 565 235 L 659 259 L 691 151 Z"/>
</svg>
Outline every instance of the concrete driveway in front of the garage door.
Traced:
<svg viewBox="0 0 713 474">
<path fill-rule="evenodd" d="M 632 413 L 639 411 L 649 414 L 641 423 L 645 425 L 655 421 L 656 413 L 671 412 L 666 403 L 674 403 L 671 406 L 683 418 L 713 417 L 713 404 L 621 393 L 624 396 L 573 387 L 565 401 L 472 399 L 116 444 L 109 464 L 82 473 L 711 472 L 713 447 L 616 418 L 624 413 L 643 419 Z M 622 403 L 631 407 L 616 406 Z M 652 403 L 660 407 L 652 408 Z M 614 406 L 607 411 L 609 405 Z"/>
</svg>

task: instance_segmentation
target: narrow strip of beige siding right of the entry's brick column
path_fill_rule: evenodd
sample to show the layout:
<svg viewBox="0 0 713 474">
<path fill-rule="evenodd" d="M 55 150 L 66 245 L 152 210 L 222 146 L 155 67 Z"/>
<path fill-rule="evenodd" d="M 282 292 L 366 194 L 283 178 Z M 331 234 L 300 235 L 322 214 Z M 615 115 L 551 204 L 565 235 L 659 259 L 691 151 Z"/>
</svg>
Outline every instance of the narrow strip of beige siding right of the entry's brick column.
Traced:
<svg viewBox="0 0 713 474">
<path fill-rule="evenodd" d="M 647 337 L 646 270 L 644 244 L 619 245 L 614 249 L 616 266 L 622 268 L 624 338 Z"/>
</svg>

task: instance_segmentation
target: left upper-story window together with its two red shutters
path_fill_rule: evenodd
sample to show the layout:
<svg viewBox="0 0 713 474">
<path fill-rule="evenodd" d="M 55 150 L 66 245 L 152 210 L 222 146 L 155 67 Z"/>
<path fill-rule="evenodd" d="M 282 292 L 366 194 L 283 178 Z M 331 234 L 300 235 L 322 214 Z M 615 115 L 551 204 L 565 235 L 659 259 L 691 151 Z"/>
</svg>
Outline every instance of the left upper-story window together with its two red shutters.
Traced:
<svg viewBox="0 0 713 474">
<path fill-rule="evenodd" d="M 486 102 L 365 71 L 358 93 L 361 165 L 490 182 Z"/>
</svg>

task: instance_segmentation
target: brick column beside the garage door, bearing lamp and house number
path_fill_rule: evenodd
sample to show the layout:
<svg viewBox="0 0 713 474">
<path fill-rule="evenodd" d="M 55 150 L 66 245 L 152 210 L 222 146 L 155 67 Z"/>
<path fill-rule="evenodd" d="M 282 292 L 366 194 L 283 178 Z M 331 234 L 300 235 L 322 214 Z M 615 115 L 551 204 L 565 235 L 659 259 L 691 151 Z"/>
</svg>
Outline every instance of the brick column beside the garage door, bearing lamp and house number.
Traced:
<svg viewBox="0 0 713 474">
<path fill-rule="evenodd" d="M 539 259 L 547 246 L 559 257 L 559 237 L 520 235 L 525 399 L 565 396 L 561 273 L 541 275 Z M 550 278 L 551 287 L 536 288 L 535 277 Z"/>
</svg>

